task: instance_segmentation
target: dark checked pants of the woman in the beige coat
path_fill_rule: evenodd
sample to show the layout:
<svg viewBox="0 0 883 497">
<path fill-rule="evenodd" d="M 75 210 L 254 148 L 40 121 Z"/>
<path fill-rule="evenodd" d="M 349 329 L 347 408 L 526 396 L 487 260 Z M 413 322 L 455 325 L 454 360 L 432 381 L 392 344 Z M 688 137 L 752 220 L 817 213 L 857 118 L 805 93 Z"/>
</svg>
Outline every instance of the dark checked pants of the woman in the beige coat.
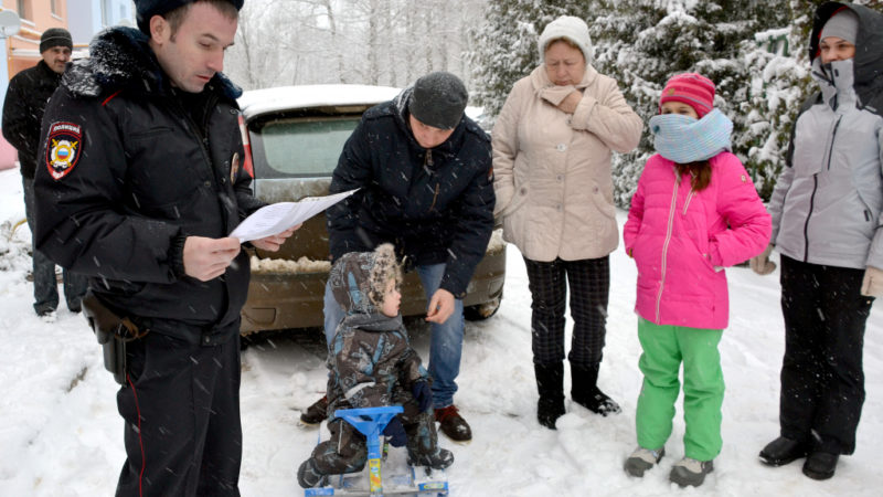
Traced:
<svg viewBox="0 0 883 497">
<path fill-rule="evenodd" d="M 585 369 L 600 363 L 610 290 L 610 258 L 539 262 L 524 257 L 531 290 L 533 362 L 564 360 L 564 309 L 571 289 L 573 338 L 567 358 Z"/>
</svg>

